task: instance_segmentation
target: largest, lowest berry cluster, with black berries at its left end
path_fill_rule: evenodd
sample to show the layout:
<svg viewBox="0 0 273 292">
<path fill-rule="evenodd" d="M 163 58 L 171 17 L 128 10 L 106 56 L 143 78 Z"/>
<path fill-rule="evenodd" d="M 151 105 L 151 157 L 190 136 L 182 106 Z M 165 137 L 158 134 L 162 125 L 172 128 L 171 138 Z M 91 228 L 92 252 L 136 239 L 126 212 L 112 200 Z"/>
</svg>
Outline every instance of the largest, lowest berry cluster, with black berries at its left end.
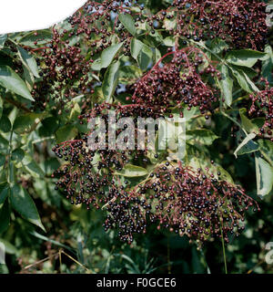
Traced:
<svg viewBox="0 0 273 292">
<path fill-rule="evenodd" d="M 228 242 L 228 235 L 244 230 L 245 211 L 257 211 L 258 205 L 241 187 L 222 181 L 220 175 L 216 179 L 181 163 L 166 162 L 134 192 L 114 192 L 117 194 L 107 206 L 105 229 L 118 227 L 121 239 L 129 243 L 134 234 L 146 233 L 148 224 L 199 243 L 222 235 Z"/>
</svg>

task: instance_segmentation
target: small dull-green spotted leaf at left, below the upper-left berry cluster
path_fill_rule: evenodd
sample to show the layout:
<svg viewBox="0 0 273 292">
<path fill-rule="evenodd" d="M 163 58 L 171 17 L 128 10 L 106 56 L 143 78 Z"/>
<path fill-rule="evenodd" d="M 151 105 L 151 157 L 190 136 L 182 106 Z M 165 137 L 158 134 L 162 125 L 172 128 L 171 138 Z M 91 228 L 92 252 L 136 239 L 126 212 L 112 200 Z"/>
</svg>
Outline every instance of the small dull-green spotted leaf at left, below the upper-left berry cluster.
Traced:
<svg viewBox="0 0 273 292">
<path fill-rule="evenodd" d="M 16 117 L 14 123 L 15 133 L 25 134 L 35 130 L 42 117 L 42 114 L 37 113 L 27 113 L 25 115 Z"/>
</svg>

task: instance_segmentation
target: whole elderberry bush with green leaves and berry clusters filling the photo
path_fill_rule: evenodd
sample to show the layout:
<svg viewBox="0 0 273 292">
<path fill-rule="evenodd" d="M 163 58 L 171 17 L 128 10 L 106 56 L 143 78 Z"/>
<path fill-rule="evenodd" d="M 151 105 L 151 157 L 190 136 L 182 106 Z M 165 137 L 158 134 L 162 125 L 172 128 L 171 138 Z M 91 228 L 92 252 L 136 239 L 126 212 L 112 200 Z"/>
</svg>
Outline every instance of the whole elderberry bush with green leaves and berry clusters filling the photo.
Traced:
<svg viewBox="0 0 273 292">
<path fill-rule="evenodd" d="M 265 8 L 87 1 L 54 27 L 0 36 L 0 271 L 218 273 L 225 239 L 228 272 L 271 273 Z M 186 118 L 185 158 L 87 151 L 88 121 L 107 110 Z"/>
</svg>

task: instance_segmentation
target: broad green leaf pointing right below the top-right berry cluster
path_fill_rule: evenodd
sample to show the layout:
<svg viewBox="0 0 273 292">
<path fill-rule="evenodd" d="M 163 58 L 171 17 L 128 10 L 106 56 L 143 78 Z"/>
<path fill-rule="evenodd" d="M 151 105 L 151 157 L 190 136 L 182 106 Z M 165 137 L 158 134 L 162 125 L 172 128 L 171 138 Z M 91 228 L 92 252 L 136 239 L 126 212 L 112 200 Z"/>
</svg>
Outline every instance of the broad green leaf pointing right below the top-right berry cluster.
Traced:
<svg viewBox="0 0 273 292">
<path fill-rule="evenodd" d="M 230 64 L 252 68 L 259 59 L 267 57 L 266 53 L 252 49 L 240 49 L 227 53 L 226 60 Z"/>
</svg>

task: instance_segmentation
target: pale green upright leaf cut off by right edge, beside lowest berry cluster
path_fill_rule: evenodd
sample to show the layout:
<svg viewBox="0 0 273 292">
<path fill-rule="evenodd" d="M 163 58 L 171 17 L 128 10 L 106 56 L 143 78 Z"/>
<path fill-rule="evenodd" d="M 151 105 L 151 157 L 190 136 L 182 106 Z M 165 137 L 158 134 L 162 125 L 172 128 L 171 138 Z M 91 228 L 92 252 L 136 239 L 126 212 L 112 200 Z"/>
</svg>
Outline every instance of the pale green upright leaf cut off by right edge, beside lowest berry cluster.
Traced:
<svg viewBox="0 0 273 292">
<path fill-rule="evenodd" d="M 257 177 L 257 193 L 263 197 L 270 193 L 273 186 L 273 168 L 265 160 L 255 158 L 256 177 Z"/>
</svg>

